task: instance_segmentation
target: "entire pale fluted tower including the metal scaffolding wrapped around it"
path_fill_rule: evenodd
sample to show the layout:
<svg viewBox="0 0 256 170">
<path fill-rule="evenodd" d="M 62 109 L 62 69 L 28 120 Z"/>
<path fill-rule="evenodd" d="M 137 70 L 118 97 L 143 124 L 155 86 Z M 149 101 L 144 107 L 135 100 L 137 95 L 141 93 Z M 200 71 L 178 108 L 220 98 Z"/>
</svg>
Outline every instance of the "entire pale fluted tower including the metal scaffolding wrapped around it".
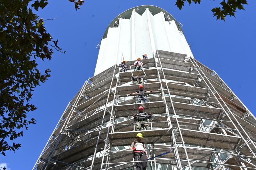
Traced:
<svg viewBox="0 0 256 170">
<path fill-rule="evenodd" d="M 118 15 L 95 75 L 68 103 L 33 170 L 140 169 L 143 161 L 147 170 L 256 169 L 255 117 L 193 57 L 181 26 L 155 6 Z M 138 133 L 142 152 L 130 150 Z"/>
</svg>

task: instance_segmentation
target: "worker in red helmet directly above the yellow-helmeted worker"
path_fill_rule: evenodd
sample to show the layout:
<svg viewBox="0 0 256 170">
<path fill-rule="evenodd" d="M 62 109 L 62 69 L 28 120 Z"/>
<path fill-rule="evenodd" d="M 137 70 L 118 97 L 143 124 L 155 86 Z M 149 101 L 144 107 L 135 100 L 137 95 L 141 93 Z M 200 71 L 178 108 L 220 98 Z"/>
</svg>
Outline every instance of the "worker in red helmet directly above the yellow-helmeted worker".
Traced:
<svg viewBox="0 0 256 170">
<path fill-rule="evenodd" d="M 146 128 L 146 130 L 150 130 L 148 125 L 148 118 L 150 118 L 152 114 L 143 112 L 144 108 L 142 106 L 140 106 L 138 110 L 139 110 L 139 113 L 133 114 L 134 123 L 140 123 L 140 124 L 137 124 L 136 131 L 143 130 L 144 128 Z"/>
</svg>

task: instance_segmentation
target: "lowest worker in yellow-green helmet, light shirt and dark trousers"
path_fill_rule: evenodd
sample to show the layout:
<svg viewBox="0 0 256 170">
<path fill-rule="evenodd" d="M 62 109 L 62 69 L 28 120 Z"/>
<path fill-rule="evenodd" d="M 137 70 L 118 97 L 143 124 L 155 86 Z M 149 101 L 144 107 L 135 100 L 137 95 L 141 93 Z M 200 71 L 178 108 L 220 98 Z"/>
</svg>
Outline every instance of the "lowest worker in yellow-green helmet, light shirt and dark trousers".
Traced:
<svg viewBox="0 0 256 170">
<path fill-rule="evenodd" d="M 148 159 L 148 153 L 145 150 L 146 146 L 141 140 L 143 136 L 141 133 L 136 135 L 137 141 L 132 142 L 130 150 L 133 150 L 134 161 L 146 161 Z M 137 170 L 146 170 L 147 162 L 136 162 Z"/>
</svg>

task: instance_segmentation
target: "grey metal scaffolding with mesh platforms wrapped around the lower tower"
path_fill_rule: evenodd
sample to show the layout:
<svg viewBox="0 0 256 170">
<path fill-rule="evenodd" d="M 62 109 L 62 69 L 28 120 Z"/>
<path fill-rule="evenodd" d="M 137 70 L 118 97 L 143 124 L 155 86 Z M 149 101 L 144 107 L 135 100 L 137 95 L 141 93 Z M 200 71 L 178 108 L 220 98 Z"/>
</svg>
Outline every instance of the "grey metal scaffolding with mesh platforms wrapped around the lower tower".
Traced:
<svg viewBox="0 0 256 170">
<path fill-rule="evenodd" d="M 33 169 L 136 169 L 129 148 L 137 133 L 155 157 L 147 169 L 256 169 L 255 117 L 228 85 L 193 57 L 154 54 L 142 70 L 127 61 L 127 72 L 114 65 L 85 81 Z M 153 91 L 147 103 L 130 95 L 138 77 Z M 135 131 L 139 106 L 152 113 L 150 130 Z"/>
</svg>

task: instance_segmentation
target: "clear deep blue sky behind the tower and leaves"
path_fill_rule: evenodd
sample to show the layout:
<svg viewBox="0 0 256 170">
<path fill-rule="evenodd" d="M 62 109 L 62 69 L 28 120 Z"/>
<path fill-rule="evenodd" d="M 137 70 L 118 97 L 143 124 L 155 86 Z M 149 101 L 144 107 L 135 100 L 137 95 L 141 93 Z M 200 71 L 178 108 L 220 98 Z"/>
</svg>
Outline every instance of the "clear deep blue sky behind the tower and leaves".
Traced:
<svg viewBox="0 0 256 170">
<path fill-rule="evenodd" d="M 197 60 L 215 70 L 244 104 L 255 113 L 255 39 L 256 2 L 249 0 L 246 11 L 226 22 L 213 18 L 212 7 L 220 1 L 202 1 L 200 5 L 185 4 L 183 10 L 170 0 L 86 1 L 75 10 L 68 0 L 49 0 L 40 18 L 56 18 L 45 22 L 47 31 L 59 40 L 66 54 L 55 52 L 52 60 L 39 61 L 39 68 L 52 70 L 46 83 L 36 87 L 31 102 L 38 107 L 28 114 L 37 123 L 24 130 L 17 142 L 21 148 L 0 156 L 0 164 L 11 170 L 32 169 L 52 130 L 68 102 L 94 74 L 100 42 L 109 23 L 121 12 L 140 5 L 155 5 L 168 11 L 181 22 L 188 44 Z"/>
</svg>

